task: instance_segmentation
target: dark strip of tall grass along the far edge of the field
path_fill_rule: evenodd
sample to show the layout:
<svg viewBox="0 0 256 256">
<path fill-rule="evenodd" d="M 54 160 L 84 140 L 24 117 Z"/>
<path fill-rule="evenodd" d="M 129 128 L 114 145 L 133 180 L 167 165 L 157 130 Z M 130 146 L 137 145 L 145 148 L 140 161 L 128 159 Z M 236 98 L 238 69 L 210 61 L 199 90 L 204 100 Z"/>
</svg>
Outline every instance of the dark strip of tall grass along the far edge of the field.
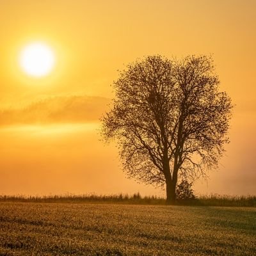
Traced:
<svg viewBox="0 0 256 256">
<path fill-rule="evenodd" d="M 141 196 L 140 193 L 133 195 L 0 195 L 0 202 L 38 202 L 38 203 L 90 203 L 90 204 L 150 204 L 164 205 L 166 199 L 159 196 Z M 177 200 L 177 205 L 202 205 L 202 206 L 243 206 L 256 207 L 256 196 L 229 196 L 229 195 L 200 195 L 195 199 Z"/>
</svg>

